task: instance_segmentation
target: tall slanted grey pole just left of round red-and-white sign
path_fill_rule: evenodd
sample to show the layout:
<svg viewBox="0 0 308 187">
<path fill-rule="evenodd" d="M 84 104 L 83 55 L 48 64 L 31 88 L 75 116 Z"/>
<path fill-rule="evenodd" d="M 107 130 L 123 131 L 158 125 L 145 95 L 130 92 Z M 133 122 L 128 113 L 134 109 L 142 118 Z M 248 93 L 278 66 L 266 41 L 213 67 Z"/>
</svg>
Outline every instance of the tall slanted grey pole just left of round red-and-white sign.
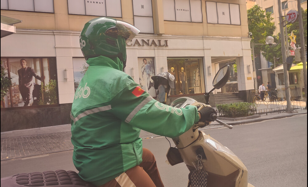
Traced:
<svg viewBox="0 0 308 187">
<path fill-rule="evenodd" d="M 281 1 L 278 0 L 278 13 L 279 13 L 279 26 L 280 26 L 280 33 L 284 35 L 283 32 L 283 20 L 282 20 L 282 10 L 281 10 Z M 285 78 L 285 92 L 286 92 L 286 101 L 287 107 L 286 112 L 291 112 L 293 109 L 291 108 L 291 97 L 290 97 L 290 82 L 289 82 L 289 72 L 287 70 L 287 63 L 286 63 L 286 47 L 283 46 L 285 44 L 285 37 L 281 37 L 281 53 L 282 53 L 282 64 L 283 64 L 283 74 Z"/>
</svg>

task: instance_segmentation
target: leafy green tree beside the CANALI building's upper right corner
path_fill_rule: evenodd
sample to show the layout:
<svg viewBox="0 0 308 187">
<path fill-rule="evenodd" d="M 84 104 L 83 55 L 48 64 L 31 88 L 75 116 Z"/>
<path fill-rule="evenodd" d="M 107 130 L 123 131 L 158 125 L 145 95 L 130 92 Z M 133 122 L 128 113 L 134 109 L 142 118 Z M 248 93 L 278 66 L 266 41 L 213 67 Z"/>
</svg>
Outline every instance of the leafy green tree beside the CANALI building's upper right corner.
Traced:
<svg viewBox="0 0 308 187">
<path fill-rule="evenodd" d="M 247 10 L 248 29 L 252 33 L 251 42 L 264 43 L 267 36 L 272 36 L 275 30 L 274 18 L 270 13 L 265 13 L 260 6 L 255 5 Z M 255 46 L 255 54 L 261 51 L 261 46 Z"/>
</svg>

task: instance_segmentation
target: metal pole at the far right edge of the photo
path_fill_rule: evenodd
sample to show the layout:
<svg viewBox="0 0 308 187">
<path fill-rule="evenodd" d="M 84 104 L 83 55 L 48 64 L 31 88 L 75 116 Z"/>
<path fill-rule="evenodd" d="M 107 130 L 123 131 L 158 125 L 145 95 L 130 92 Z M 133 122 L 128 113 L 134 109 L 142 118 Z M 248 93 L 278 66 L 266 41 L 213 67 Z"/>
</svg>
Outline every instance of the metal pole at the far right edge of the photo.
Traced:
<svg viewBox="0 0 308 187">
<path fill-rule="evenodd" d="M 299 23 L 299 34 L 301 38 L 301 59 L 303 62 L 303 71 L 304 71 L 304 89 L 306 97 L 306 107 L 307 109 L 307 62 L 306 62 L 306 49 L 305 49 L 305 38 L 304 38 L 304 27 L 303 27 L 303 18 L 302 18 L 302 8 L 301 1 L 297 0 L 297 9 L 298 9 L 298 23 Z"/>
</svg>

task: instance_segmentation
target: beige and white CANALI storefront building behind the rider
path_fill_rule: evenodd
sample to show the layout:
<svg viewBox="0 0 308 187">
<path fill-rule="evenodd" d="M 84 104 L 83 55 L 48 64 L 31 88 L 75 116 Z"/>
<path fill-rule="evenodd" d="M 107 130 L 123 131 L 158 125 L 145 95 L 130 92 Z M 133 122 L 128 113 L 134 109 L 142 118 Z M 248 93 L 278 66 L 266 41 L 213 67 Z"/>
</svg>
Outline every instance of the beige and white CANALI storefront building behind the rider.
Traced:
<svg viewBox="0 0 308 187">
<path fill-rule="evenodd" d="M 71 103 L 87 70 L 79 34 L 97 16 L 141 30 L 127 43 L 125 72 L 152 97 L 155 74 L 175 75 L 171 98 L 197 97 L 213 88 L 214 75 L 225 64 L 236 69 L 215 93 L 236 92 L 245 100 L 254 89 L 244 0 L 6 0 L 1 15 L 22 20 L 15 34 L 1 38 L 2 66 L 13 82 L 1 102 L 1 132 L 70 123 Z M 23 60 L 37 75 L 27 106 L 19 81 Z"/>
</svg>

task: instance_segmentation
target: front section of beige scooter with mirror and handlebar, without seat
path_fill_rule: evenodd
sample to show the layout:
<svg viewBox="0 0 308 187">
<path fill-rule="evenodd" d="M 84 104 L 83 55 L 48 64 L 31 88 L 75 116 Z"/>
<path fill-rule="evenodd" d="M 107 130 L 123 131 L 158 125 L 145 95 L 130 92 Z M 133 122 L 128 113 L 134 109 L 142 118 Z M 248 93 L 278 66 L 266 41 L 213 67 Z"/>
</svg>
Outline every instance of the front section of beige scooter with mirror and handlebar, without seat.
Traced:
<svg viewBox="0 0 308 187">
<path fill-rule="evenodd" d="M 226 84 L 230 77 L 230 71 L 231 67 L 229 65 L 218 70 L 213 80 L 214 88 L 204 95 L 205 104 L 197 102 L 189 97 L 180 97 L 174 100 L 170 106 L 185 108 L 187 105 L 194 105 L 198 110 L 204 107 L 211 107 L 209 105 L 210 93 L 215 89 L 220 89 Z M 170 76 L 165 77 L 170 79 Z M 171 81 L 168 80 L 168 82 L 172 82 L 172 78 Z M 158 90 L 158 101 L 163 103 L 166 102 L 166 97 L 168 96 L 166 92 L 169 91 L 168 86 L 164 83 L 158 83 L 156 86 Z M 164 94 L 159 92 L 163 92 Z M 216 114 L 213 113 L 211 118 L 221 125 L 232 129 L 232 125 L 225 124 L 218 120 Z M 253 185 L 248 183 L 248 170 L 243 162 L 229 148 L 219 143 L 213 137 L 198 130 L 209 124 L 210 122 L 199 122 L 194 124 L 193 127 L 179 137 L 172 138 L 176 147 L 170 146 L 167 153 L 168 163 L 172 166 L 182 162 L 186 164 L 190 171 L 190 183 L 188 187 L 190 185 L 202 187 L 253 187 Z M 191 177 L 191 175 L 194 176 Z"/>
</svg>

